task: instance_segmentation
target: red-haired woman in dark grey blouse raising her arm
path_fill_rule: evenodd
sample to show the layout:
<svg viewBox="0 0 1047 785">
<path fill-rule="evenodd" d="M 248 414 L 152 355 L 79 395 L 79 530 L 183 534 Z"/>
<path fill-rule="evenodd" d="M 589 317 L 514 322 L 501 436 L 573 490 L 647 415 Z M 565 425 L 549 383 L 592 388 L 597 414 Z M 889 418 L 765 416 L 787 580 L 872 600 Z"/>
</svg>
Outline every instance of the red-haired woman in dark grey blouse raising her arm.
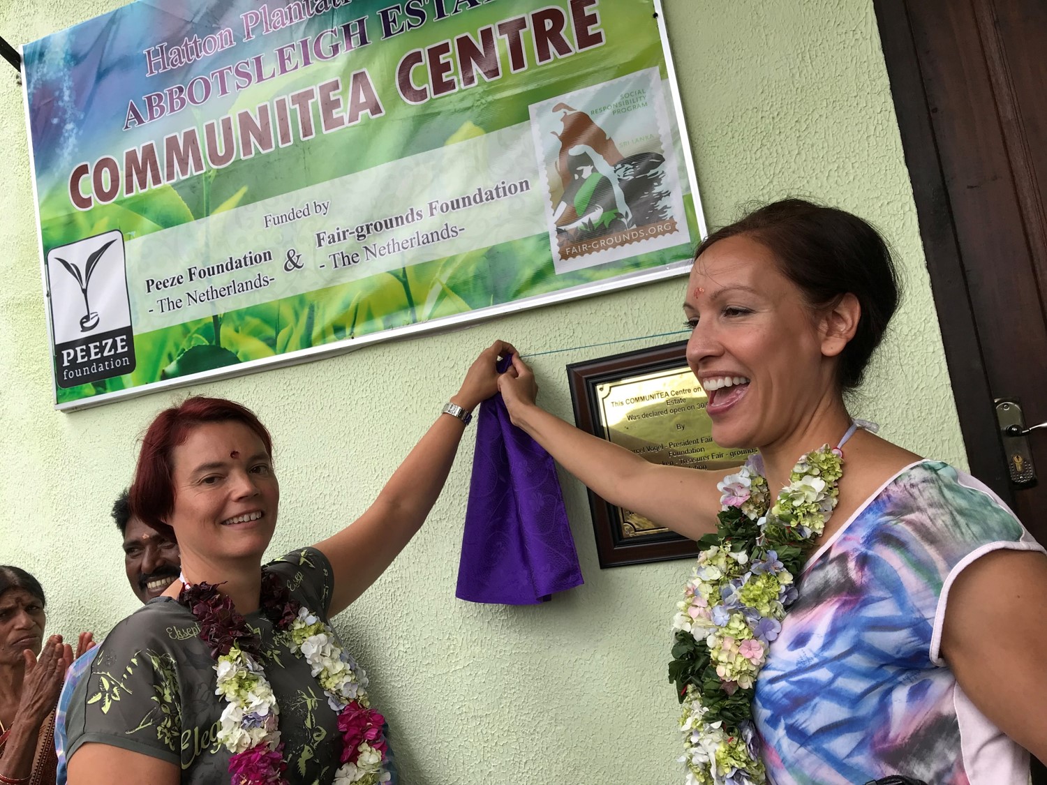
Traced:
<svg viewBox="0 0 1047 785">
<path fill-rule="evenodd" d="M 177 539 L 181 580 L 113 629 L 77 686 L 70 785 L 394 782 L 384 718 L 329 620 L 421 528 L 513 351 L 496 341 L 480 355 L 355 522 L 265 565 L 280 506 L 265 426 L 214 398 L 161 411 L 131 506 Z"/>
</svg>

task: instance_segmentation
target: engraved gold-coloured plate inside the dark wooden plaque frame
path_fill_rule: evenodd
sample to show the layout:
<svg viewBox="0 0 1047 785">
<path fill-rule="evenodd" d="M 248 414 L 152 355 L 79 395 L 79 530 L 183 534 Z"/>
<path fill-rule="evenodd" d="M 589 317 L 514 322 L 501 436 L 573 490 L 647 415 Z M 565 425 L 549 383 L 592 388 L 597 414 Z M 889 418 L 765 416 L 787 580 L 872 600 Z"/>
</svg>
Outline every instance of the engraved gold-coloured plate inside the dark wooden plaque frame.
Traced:
<svg viewBox="0 0 1047 785">
<path fill-rule="evenodd" d="M 652 464 L 727 470 L 756 452 L 713 442 L 708 398 L 687 365 L 597 384 L 596 394 L 604 438 Z M 668 531 L 618 510 L 623 538 Z"/>
</svg>

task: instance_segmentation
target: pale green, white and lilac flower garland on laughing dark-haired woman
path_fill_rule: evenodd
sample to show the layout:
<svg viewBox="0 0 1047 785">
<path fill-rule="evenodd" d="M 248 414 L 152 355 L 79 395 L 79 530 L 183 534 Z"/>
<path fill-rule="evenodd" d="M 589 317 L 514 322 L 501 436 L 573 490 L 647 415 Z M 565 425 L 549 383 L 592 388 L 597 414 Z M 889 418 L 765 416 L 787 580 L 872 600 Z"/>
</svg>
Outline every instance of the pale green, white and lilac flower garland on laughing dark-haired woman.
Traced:
<svg viewBox="0 0 1047 785">
<path fill-rule="evenodd" d="M 687 785 L 766 781 L 753 725 L 756 677 L 797 598 L 794 576 L 837 506 L 842 474 L 843 453 L 825 445 L 800 457 L 773 507 L 766 479 L 748 465 L 717 485 L 718 531 L 698 541 L 672 624 L 669 680 L 684 706 Z"/>
</svg>

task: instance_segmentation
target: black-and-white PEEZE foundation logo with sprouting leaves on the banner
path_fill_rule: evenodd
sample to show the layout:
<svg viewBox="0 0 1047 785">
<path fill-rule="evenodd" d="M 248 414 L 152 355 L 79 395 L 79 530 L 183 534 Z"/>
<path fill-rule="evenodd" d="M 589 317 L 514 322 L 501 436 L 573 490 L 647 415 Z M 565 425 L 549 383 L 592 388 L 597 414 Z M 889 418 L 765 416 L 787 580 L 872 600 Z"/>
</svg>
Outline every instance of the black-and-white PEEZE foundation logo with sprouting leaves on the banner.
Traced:
<svg viewBox="0 0 1047 785">
<path fill-rule="evenodd" d="M 52 248 L 46 267 L 58 385 L 74 387 L 134 371 L 124 236 L 107 231 Z"/>
</svg>

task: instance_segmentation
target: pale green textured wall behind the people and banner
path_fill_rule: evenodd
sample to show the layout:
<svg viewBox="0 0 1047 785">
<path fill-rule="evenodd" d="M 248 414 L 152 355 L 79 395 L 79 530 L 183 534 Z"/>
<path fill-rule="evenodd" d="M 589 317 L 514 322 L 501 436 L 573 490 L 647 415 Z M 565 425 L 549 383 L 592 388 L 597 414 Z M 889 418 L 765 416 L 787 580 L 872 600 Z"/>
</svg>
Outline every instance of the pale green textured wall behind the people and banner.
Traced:
<svg viewBox="0 0 1047 785">
<path fill-rule="evenodd" d="M 120 4 L 3 0 L 0 35 L 23 43 Z M 665 5 L 710 225 L 745 200 L 801 194 L 879 226 L 908 292 L 854 413 L 910 449 L 963 464 L 870 0 Z M 0 562 L 40 577 L 52 631 L 104 632 L 136 602 L 109 504 L 150 416 L 185 391 L 51 409 L 22 96 L 5 64 L 0 140 Z M 677 279 L 192 391 L 244 401 L 272 429 L 284 494 L 275 554 L 362 511 L 495 337 L 538 353 L 666 332 L 683 320 L 682 299 Z M 565 363 L 654 342 L 535 358 L 544 404 L 571 417 Z M 585 585 L 542 607 L 459 602 L 471 457 L 470 442 L 422 533 L 338 619 L 395 728 L 407 785 L 680 781 L 665 664 L 689 565 L 601 571 L 584 492 L 564 478 Z"/>
</svg>

